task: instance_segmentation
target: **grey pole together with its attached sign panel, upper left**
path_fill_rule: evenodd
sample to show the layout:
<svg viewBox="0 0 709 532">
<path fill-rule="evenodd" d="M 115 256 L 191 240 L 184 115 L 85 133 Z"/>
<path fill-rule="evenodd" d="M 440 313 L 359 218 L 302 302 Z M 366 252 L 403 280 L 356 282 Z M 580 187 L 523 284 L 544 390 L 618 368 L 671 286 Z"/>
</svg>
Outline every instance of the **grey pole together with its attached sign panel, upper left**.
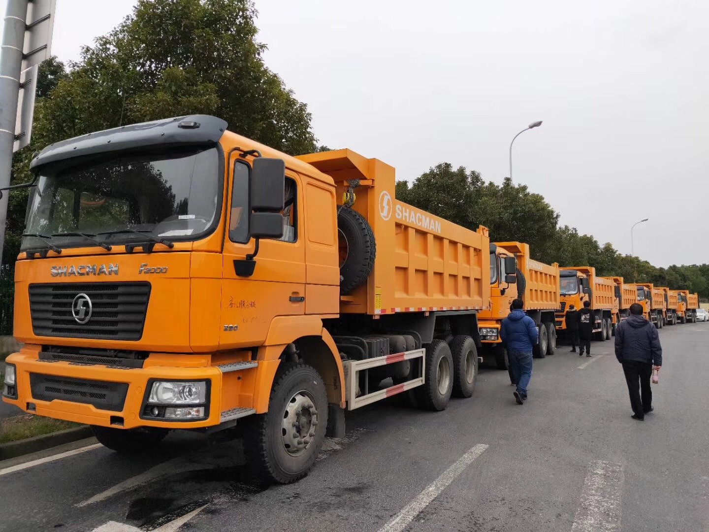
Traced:
<svg viewBox="0 0 709 532">
<path fill-rule="evenodd" d="M 7 0 L 0 50 L 0 189 L 10 186 L 12 154 L 30 143 L 40 62 L 50 57 L 57 0 Z M 9 194 L 0 198 L 0 260 Z"/>
</svg>

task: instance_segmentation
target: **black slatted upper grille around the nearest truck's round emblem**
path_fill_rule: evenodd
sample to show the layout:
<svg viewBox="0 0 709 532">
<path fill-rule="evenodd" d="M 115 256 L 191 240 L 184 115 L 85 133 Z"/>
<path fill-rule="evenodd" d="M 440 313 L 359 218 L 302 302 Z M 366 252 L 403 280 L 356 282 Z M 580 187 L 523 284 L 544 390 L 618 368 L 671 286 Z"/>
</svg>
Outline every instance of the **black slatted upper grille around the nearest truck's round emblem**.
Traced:
<svg viewBox="0 0 709 532">
<path fill-rule="evenodd" d="M 91 315 L 79 323 L 74 298 L 86 294 Z M 140 340 L 150 298 L 148 282 L 30 284 L 30 314 L 37 336 Z"/>
</svg>

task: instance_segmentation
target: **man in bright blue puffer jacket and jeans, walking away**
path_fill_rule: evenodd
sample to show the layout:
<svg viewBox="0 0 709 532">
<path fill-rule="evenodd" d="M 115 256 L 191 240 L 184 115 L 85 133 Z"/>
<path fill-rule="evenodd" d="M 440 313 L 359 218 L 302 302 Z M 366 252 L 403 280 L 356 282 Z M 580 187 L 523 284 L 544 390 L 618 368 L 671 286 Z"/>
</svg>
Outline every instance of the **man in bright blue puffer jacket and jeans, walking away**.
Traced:
<svg viewBox="0 0 709 532">
<path fill-rule="evenodd" d="M 512 301 L 510 315 L 502 321 L 500 338 L 507 344 L 512 377 L 517 383 L 514 392 L 517 404 L 527 399 L 527 386 L 532 379 L 532 346 L 539 342 L 539 330 L 532 318 L 523 311 L 521 299 Z"/>
</svg>

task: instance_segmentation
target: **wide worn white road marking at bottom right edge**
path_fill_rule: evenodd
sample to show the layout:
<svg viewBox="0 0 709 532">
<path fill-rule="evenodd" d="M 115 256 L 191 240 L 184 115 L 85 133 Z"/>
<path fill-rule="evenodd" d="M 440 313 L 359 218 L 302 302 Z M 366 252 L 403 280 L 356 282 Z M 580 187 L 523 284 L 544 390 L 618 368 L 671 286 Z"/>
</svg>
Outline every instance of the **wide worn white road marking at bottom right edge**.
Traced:
<svg viewBox="0 0 709 532">
<path fill-rule="evenodd" d="M 620 527 L 623 465 L 591 462 L 571 532 L 612 532 Z"/>
</svg>

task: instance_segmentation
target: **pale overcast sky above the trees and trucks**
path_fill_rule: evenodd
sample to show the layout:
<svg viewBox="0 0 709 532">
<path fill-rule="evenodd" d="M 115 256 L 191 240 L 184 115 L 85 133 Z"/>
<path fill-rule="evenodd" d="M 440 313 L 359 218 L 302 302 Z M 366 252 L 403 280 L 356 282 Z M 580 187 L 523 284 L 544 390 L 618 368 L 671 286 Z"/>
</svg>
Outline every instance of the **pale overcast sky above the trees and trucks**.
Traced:
<svg viewBox="0 0 709 532">
<path fill-rule="evenodd" d="M 133 0 L 57 0 L 52 52 Z M 513 179 L 560 223 L 654 265 L 709 262 L 706 0 L 257 0 L 259 40 L 316 136 L 413 180 L 438 162 Z M 6 0 L 0 0 L 5 11 Z M 494 238 L 494 235 L 492 235 Z"/>
</svg>

